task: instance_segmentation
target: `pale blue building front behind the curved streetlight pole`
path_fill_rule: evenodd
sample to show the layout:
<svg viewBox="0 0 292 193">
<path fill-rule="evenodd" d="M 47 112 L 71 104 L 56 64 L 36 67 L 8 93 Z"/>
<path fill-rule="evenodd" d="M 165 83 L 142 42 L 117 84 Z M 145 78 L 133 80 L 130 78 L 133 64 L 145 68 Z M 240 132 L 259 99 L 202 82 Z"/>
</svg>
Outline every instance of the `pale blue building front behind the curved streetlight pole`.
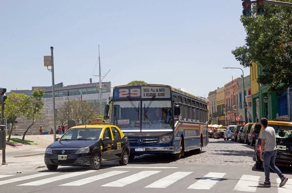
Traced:
<svg viewBox="0 0 292 193">
<path fill-rule="evenodd" d="M 253 122 L 253 105 L 252 105 L 252 89 L 251 89 L 251 76 L 244 77 L 244 91 L 243 91 L 243 78 L 238 81 L 237 88 L 237 116 L 240 118 L 240 123 L 245 122 L 245 109 L 244 109 L 244 97 L 247 104 L 247 121 Z"/>
</svg>

